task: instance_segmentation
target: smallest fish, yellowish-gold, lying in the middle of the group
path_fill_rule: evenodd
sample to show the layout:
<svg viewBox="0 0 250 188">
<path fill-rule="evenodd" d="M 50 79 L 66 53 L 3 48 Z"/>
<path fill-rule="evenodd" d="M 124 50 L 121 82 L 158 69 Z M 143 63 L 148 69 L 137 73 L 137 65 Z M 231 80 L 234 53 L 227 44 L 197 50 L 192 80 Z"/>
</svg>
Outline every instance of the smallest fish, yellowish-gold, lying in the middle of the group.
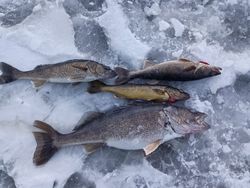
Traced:
<svg viewBox="0 0 250 188">
<path fill-rule="evenodd" d="M 153 85 L 135 85 L 125 84 L 120 86 L 109 86 L 99 81 L 89 83 L 89 93 L 111 92 L 117 97 L 155 101 L 155 102 L 169 102 L 174 103 L 180 100 L 187 100 L 190 98 L 189 94 L 170 86 L 153 86 Z"/>
</svg>

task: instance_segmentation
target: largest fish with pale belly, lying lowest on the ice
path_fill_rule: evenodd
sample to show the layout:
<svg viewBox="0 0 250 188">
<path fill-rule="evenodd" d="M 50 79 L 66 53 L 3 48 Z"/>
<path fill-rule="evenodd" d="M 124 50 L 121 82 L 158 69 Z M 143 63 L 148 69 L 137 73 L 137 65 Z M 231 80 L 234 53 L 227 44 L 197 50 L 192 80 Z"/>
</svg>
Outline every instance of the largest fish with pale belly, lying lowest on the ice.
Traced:
<svg viewBox="0 0 250 188">
<path fill-rule="evenodd" d="M 207 130 L 207 115 L 187 108 L 157 105 L 130 105 L 89 116 L 68 134 L 62 134 L 49 124 L 36 120 L 34 131 L 37 146 L 33 163 L 45 164 L 62 147 L 83 145 L 94 152 L 102 145 L 122 150 L 154 152 L 162 143 L 192 133 Z"/>
</svg>

